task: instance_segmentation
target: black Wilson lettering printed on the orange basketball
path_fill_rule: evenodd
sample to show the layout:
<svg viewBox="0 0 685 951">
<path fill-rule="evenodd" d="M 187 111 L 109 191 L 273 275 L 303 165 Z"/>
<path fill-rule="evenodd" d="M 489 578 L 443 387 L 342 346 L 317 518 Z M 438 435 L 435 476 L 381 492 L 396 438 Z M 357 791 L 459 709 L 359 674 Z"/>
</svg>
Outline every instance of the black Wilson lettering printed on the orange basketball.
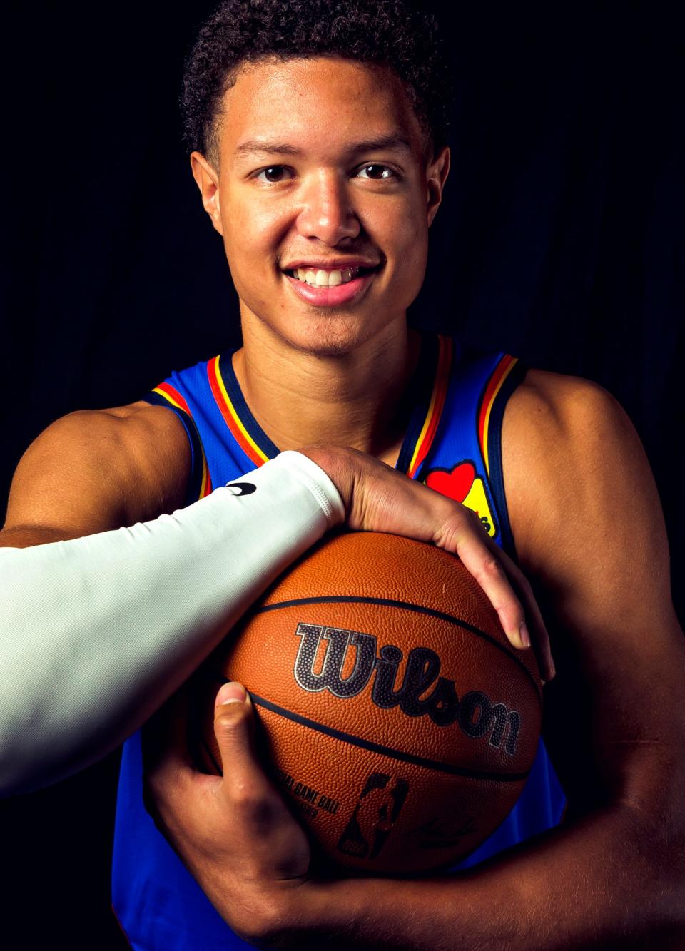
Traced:
<svg viewBox="0 0 685 951">
<path fill-rule="evenodd" d="M 460 699 L 454 681 L 440 677 L 440 657 L 435 650 L 410 650 L 398 686 L 398 670 L 404 655 L 392 644 L 385 645 L 379 652 L 374 634 L 302 623 L 296 634 L 301 642 L 293 672 L 303 690 L 311 693 L 328 690 L 348 700 L 361 693 L 374 677 L 371 700 L 377 707 L 399 707 L 407 716 L 429 716 L 439 727 L 456 723 L 472 739 L 489 734 L 491 747 L 499 748 L 504 741 L 504 750 L 510 756 L 516 755 L 519 711 L 493 703 L 480 690 L 471 690 Z M 354 666 L 342 676 L 342 671 L 352 665 L 351 658 L 347 662 L 348 651 L 352 649 L 355 650 Z"/>
</svg>

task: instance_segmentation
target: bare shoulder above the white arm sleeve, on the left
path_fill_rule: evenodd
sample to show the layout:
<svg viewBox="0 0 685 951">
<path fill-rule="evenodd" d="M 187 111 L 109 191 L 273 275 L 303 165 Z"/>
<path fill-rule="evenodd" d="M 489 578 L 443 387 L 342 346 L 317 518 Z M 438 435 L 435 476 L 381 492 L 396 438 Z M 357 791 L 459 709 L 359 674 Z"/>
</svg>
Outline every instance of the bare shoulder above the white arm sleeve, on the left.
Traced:
<svg viewBox="0 0 685 951">
<path fill-rule="evenodd" d="M 28 528 L 52 540 L 154 518 L 183 503 L 189 467 L 183 424 L 164 407 L 140 401 L 70 413 L 22 457 L 5 534 Z"/>
</svg>

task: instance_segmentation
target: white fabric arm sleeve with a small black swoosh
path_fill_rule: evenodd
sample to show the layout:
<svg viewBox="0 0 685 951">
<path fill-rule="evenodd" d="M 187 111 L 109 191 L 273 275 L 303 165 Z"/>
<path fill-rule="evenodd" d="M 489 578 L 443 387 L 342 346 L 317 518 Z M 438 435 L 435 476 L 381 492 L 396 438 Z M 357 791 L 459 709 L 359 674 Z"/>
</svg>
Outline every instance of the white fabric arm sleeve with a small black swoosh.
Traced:
<svg viewBox="0 0 685 951">
<path fill-rule="evenodd" d="M 0 549 L 2 794 L 118 746 L 344 519 L 335 486 L 300 453 L 235 481 L 132 528 Z"/>
</svg>

